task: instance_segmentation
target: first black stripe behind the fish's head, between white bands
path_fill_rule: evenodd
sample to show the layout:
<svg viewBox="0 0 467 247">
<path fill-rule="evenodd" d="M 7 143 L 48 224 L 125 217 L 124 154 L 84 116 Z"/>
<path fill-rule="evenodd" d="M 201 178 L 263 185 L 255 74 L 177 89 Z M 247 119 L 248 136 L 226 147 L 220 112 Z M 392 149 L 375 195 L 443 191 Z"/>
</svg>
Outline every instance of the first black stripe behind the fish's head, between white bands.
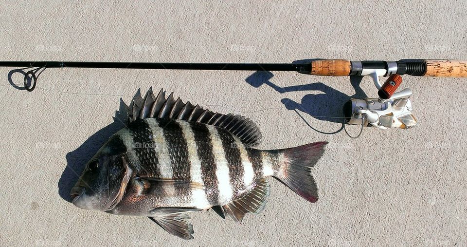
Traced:
<svg viewBox="0 0 467 247">
<path fill-rule="evenodd" d="M 128 125 L 133 137 L 133 150 L 138 158 L 142 173 L 146 176 L 160 177 L 159 157 L 155 150 L 152 130 L 146 121 L 135 121 Z"/>
</svg>

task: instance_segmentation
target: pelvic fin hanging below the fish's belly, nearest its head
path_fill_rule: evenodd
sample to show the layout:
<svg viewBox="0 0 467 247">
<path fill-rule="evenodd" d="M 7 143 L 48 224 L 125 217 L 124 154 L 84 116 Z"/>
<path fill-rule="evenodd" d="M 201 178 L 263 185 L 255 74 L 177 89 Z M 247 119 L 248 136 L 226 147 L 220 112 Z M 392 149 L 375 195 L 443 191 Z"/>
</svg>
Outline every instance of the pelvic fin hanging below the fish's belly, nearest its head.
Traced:
<svg viewBox="0 0 467 247">
<path fill-rule="evenodd" d="M 154 216 L 148 217 L 159 226 L 161 226 L 168 233 L 188 240 L 193 239 L 193 225 L 187 222 L 190 216 L 185 214 L 186 211 L 192 211 L 197 209 L 154 209 L 151 211 Z"/>
</svg>

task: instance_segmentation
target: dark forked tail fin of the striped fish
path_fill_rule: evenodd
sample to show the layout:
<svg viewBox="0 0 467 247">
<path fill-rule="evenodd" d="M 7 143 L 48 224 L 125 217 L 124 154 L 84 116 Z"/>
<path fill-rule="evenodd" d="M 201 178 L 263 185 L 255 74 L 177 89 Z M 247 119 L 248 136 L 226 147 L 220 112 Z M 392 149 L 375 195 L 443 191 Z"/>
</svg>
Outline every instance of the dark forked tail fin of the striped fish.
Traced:
<svg viewBox="0 0 467 247">
<path fill-rule="evenodd" d="M 280 150 L 284 154 L 285 164 L 283 169 L 276 170 L 274 177 L 307 201 L 318 201 L 318 189 L 310 172 L 323 156 L 326 144 L 327 142 L 314 142 Z"/>
</svg>

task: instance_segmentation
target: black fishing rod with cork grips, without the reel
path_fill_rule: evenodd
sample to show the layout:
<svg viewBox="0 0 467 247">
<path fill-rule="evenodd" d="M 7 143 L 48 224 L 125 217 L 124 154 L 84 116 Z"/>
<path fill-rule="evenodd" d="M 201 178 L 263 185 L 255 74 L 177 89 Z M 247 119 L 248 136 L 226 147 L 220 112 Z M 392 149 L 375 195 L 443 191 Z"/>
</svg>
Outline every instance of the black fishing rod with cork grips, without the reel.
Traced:
<svg viewBox="0 0 467 247">
<path fill-rule="evenodd" d="M 156 62 L 60 62 L 0 61 L 0 67 L 106 68 L 165 70 L 296 71 L 315 76 L 365 76 L 374 70 L 411 76 L 466 77 L 467 61 L 403 59 L 399 61 L 349 61 L 314 59 L 305 63 L 156 63 Z M 31 73 L 33 75 L 34 73 Z"/>
</svg>

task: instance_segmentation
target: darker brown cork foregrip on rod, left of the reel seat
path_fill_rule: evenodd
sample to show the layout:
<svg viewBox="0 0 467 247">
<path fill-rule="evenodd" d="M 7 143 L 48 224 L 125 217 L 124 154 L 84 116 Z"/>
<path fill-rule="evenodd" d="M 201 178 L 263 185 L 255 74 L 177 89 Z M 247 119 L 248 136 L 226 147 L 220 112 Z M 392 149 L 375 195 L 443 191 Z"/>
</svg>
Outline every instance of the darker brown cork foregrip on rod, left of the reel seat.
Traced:
<svg viewBox="0 0 467 247">
<path fill-rule="evenodd" d="M 311 62 L 311 75 L 314 76 L 348 76 L 350 61 L 342 59 L 322 59 Z"/>
</svg>

